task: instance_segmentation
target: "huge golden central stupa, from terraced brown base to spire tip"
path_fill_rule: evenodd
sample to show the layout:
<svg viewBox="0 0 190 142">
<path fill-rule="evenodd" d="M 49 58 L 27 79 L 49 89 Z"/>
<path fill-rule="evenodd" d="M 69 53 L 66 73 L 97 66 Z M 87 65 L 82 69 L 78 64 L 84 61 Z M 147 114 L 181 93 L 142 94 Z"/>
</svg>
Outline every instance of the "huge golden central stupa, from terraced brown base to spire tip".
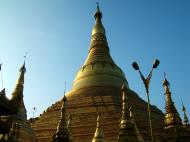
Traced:
<svg viewBox="0 0 190 142">
<path fill-rule="evenodd" d="M 150 128 L 147 103 L 132 91 L 123 71 L 110 56 L 106 32 L 101 22 L 102 13 L 97 6 L 95 25 L 92 29 L 89 54 L 79 69 L 72 89 L 67 97 L 67 113 L 72 115 L 70 131 L 74 142 L 90 142 L 96 130 L 97 109 L 101 113 L 101 128 L 104 139 L 114 142 L 118 139 L 119 123 L 122 113 L 122 90 L 124 84 L 128 102 L 133 109 L 133 117 L 144 141 L 149 142 Z M 35 119 L 32 128 L 39 142 L 50 142 L 60 120 L 62 101 L 48 107 Z M 153 131 L 156 142 L 164 126 L 164 114 L 151 106 Z"/>
</svg>

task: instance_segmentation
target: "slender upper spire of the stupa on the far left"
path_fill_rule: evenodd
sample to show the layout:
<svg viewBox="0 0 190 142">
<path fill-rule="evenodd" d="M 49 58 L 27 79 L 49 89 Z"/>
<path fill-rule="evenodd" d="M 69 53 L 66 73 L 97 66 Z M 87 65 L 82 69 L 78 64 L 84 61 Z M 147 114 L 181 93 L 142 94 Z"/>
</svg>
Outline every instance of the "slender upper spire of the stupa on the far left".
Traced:
<svg viewBox="0 0 190 142">
<path fill-rule="evenodd" d="M 16 87 L 12 93 L 11 96 L 11 102 L 17 107 L 17 116 L 22 119 L 26 120 L 27 115 L 26 115 L 26 108 L 24 105 L 24 100 L 23 100 L 23 89 L 24 89 L 24 74 L 26 72 L 26 67 L 25 67 L 25 62 L 20 68 L 20 74 L 19 78 L 16 83 Z"/>
</svg>

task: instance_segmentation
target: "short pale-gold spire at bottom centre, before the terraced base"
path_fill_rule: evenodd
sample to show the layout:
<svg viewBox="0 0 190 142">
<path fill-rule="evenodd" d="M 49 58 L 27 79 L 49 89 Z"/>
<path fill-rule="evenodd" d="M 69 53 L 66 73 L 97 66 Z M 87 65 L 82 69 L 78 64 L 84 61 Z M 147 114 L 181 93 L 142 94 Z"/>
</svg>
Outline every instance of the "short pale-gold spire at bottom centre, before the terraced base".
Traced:
<svg viewBox="0 0 190 142">
<path fill-rule="evenodd" d="M 94 137 L 92 139 L 92 142 L 104 142 L 104 132 L 103 129 L 100 126 L 100 112 L 97 112 L 97 126 L 96 126 L 96 131 L 94 133 Z"/>
</svg>

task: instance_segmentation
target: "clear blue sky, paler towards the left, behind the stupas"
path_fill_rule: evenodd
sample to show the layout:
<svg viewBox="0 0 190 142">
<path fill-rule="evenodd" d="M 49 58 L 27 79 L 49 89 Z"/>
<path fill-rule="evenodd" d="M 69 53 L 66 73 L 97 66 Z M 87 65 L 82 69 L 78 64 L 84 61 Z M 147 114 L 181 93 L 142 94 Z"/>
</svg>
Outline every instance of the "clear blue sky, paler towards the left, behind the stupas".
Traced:
<svg viewBox="0 0 190 142">
<path fill-rule="evenodd" d="M 190 115 L 190 1 L 99 0 L 111 56 L 129 86 L 146 100 L 131 64 L 147 75 L 155 58 L 161 62 L 150 84 L 151 103 L 164 111 L 163 73 L 181 113 L 182 97 Z M 28 117 L 58 101 L 72 88 L 88 54 L 96 0 L 1 0 L 0 59 L 7 96 L 26 59 L 24 101 Z M 0 83 L 1 85 L 1 83 Z"/>
</svg>

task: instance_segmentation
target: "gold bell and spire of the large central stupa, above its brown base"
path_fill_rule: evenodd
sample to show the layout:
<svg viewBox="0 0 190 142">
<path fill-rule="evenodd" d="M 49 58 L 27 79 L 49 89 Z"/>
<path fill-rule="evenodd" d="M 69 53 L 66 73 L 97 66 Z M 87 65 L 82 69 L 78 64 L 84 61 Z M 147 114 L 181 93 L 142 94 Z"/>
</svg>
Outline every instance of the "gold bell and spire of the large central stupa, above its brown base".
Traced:
<svg viewBox="0 0 190 142">
<path fill-rule="evenodd" d="M 120 88 L 123 82 L 128 87 L 123 71 L 110 56 L 102 16 L 99 5 L 97 5 L 89 54 L 74 80 L 73 89 L 92 86 L 115 86 Z"/>
</svg>

